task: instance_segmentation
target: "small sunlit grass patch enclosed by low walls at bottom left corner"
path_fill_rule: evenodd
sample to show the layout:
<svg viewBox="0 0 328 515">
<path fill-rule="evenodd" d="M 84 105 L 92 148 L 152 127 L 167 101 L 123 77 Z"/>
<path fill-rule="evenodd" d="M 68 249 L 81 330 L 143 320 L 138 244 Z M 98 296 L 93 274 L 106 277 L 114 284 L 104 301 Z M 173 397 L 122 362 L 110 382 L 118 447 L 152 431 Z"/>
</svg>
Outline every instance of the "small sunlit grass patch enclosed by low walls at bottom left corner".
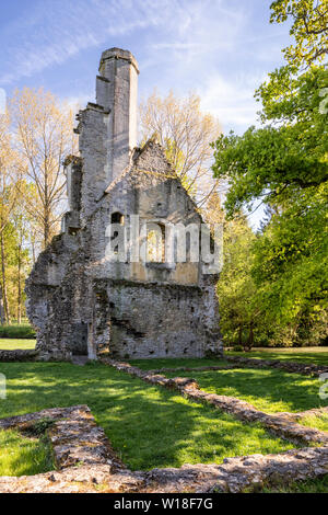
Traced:
<svg viewBox="0 0 328 515">
<path fill-rule="evenodd" d="M 55 469 L 49 442 L 0 431 L 0 476 L 33 476 Z"/>
</svg>

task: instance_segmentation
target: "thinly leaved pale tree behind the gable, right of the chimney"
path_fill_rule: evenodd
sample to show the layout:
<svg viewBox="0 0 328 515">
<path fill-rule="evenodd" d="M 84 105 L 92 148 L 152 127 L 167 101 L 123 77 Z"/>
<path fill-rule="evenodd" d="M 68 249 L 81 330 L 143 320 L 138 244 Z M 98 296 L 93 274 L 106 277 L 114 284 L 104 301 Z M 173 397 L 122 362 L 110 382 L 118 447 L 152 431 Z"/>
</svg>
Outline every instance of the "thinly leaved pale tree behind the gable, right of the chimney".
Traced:
<svg viewBox="0 0 328 515">
<path fill-rule="evenodd" d="M 140 103 L 139 112 L 141 140 L 159 140 L 186 190 L 199 207 L 204 206 L 218 187 L 209 172 L 213 157 L 210 144 L 221 133 L 218 119 L 201 112 L 198 95 L 178 99 L 172 91 L 164 99 L 154 91 Z"/>
</svg>

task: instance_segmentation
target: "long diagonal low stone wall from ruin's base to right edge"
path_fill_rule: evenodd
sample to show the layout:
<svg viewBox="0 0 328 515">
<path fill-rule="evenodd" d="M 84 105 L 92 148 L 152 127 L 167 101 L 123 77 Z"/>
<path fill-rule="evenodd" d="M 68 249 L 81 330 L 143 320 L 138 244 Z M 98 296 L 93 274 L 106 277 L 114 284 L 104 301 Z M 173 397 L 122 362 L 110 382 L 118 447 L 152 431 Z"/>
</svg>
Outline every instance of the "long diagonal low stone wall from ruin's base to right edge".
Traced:
<svg viewBox="0 0 328 515">
<path fill-rule="evenodd" d="M 113 359 L 103 359 L 103 362 L 118 370 L 122 370 L 132 376 L 139 377 L 140 379 L 152 385 L 159 385 L 165 388 L 179 390 L 184 397 L 196 402 L 211 404 L 214 408 L 233 414 L 236 419 L 243 422 L 259 422 L 271 433 L 291 442 L 328 445 L 328 433 L 324 431 L 318 431 L 297 424 L 284 414 L 267 414 L 257 410 L 248 402 L 236 399 L 235 397 L 207 393 L 206 391 L 202 391 L 198 388 L 195 379 L 183 377 L 168 379 L 165 376 L 140 370 L 140 368 L 132 367 L 128 363 L 119 363 Z"/>
</svg>

